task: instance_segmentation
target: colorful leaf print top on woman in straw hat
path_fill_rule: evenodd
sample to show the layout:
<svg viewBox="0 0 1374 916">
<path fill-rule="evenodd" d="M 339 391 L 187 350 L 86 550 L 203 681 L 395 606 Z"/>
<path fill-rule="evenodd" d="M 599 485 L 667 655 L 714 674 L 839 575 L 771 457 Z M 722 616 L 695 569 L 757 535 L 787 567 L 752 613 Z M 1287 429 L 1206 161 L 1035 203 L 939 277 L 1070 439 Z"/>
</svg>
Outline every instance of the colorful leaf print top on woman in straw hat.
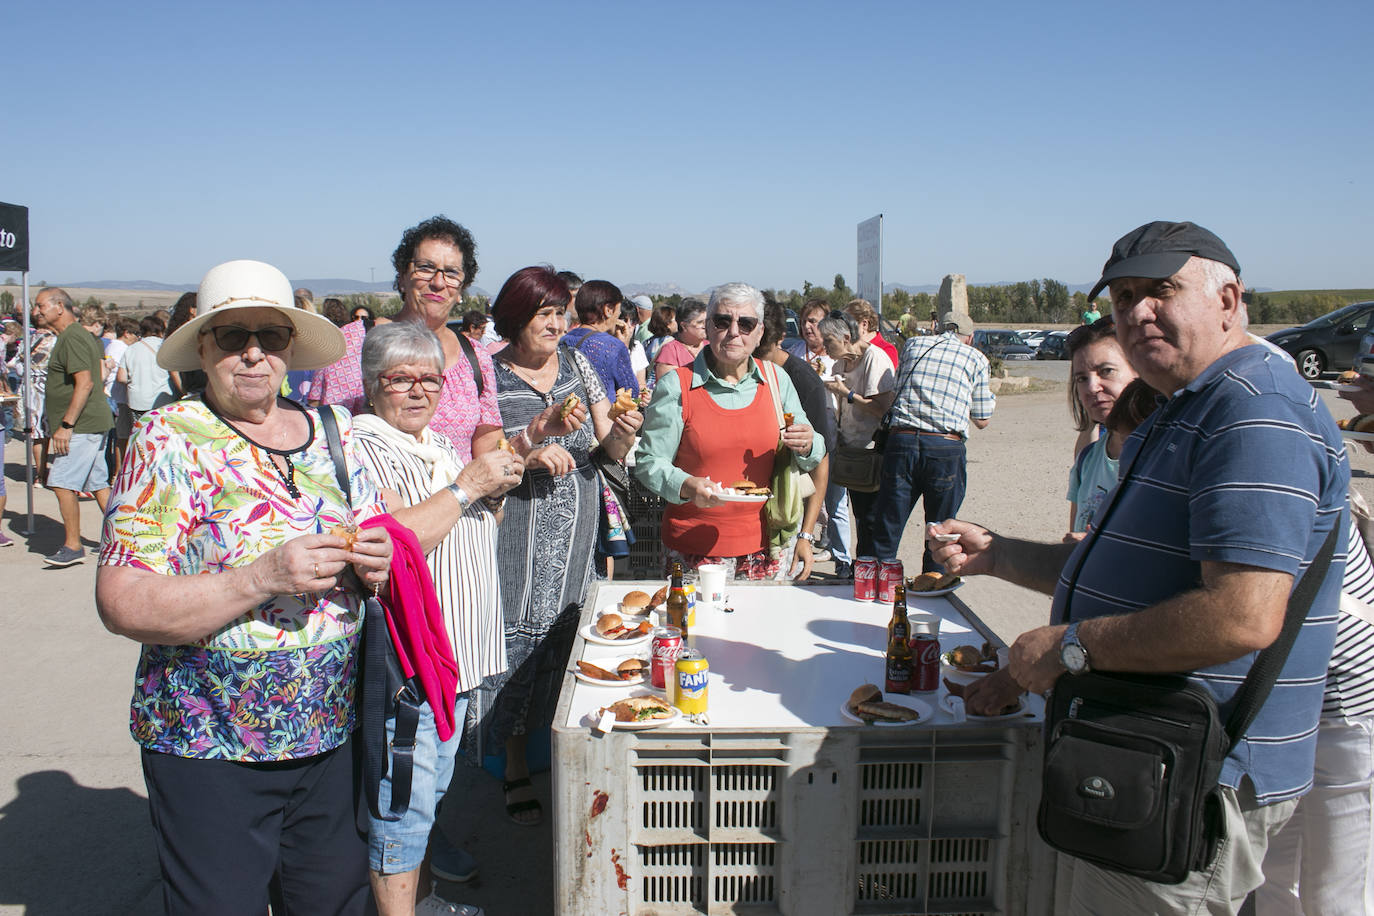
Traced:
<svg viewBox="0 0 1374 916">
<path fill-rule="evenodd" d="M 313 411 L 309 445 L 291 453 L 300 499 L 272 471 L 267 450 L 202 401 L 148 412 L 110 496 L 100 564 L 213 574 L 294 537 L 379 515 L 376 486 L 353 460 L 352 423 L 344 411 L 335 415 L 356 511 L 339 493 Z M 361 618 L 361 597 L 345 589 L 279 595 L 191 645 L 144 645 L 129 713 L 133 739 L 162 754 L 249 762 L 338 747 L 353 729 Z"/>
</svg>

